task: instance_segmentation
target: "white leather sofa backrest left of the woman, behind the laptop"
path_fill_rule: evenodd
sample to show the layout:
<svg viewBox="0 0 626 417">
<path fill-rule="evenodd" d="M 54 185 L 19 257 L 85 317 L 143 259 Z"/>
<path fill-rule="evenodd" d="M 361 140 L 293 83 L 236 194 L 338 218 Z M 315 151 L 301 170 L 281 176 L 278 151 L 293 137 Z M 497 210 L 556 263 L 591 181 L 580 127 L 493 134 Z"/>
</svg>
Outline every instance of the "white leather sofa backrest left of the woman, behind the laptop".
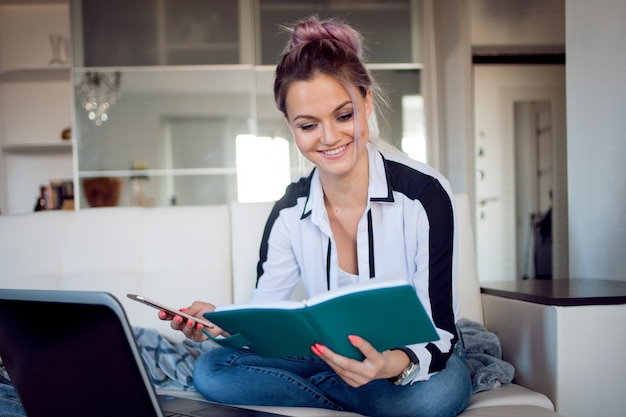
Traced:
<svg viewBox="0 0 626 417">
<path fill-rule="evenodd" d="M 0 287 L 107 291 L 131 324 L 181 339 L 126 294 L 176 308 L 231 303 L 230 248 L 227 205 L 0 216 Z"/>
</svg>

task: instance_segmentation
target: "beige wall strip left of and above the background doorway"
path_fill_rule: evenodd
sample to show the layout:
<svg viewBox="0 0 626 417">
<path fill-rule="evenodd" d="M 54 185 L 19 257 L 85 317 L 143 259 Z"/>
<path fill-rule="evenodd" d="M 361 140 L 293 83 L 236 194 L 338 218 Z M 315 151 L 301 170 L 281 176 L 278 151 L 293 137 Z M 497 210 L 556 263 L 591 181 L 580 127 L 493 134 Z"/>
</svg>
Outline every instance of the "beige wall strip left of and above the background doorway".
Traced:
<svg viewBox="0 0 626 417">
<path fill-rule="evenodd" d="M 433 164 L 474 200 L 472 48 L 560 51 L 564 0 L 430 0 L 434 11 L 440 155 Z"/>
</svg>

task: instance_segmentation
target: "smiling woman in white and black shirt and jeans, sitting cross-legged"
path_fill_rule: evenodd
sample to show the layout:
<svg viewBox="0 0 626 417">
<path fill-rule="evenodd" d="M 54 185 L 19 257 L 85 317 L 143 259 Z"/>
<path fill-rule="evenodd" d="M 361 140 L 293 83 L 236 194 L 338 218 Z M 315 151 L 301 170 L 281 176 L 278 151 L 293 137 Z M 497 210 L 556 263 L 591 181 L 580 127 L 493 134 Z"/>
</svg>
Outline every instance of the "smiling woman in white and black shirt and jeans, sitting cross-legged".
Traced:
<svg viewBox="0 0 626 417">
<path fill-rule="evenodd" d="M 274 95 L 302 155 L 315 168 L 292 183 L 267 221 L 253 301 L 289 298 L 300 280 L 310 296 L 402 272 L 431 314 L 440 340 L 376 351 L 358 335 L 356 361 L 316 344 L 310 357 L 266 359 L 219 348 L 198 358 L 197 390 L 230 404 L 321 407 L 369 416 L 455 416 L 471 395 L 454 354 L 454 213 L 448 182 L 434 169 L 370 138 L 375 85 L 350 26 L 310 18 L 295 25 Z M 214 306 L 195 302 L 201 317 Z M 172 327 L 205 340 L 180 316 Z M 215 327 L 212 335 L 223 334 Z M 284 337 L 289 337 L 284 335 Z M 280 335 L 277 335 L 280 341 Z"/>
</svg>

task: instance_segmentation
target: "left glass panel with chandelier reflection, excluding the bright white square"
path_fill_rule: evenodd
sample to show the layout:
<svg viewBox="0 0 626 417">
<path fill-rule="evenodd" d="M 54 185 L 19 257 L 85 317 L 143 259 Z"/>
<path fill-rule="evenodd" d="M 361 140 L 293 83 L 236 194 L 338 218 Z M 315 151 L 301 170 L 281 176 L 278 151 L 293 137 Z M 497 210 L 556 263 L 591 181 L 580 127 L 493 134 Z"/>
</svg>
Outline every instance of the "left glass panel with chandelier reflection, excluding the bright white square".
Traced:
<svg viewBox="0 0 626 417">
<path fill-rule="evenodd" d="M 107 72 L 99 84 L 86 85 L 93 74 L 74 70 L 82 197 L 89 195 L 83 179 L 104 177 L 119 180 L 111 205 L 237 199 L 235 138 L 255 133 L 250 67 L 126 68 L 117 76 L 115 100 L 106 97 L 112 90 L 104 86 Z M 85 100 L 89 88 L 99 103 Z M 93 108 L 102 103 L 107 112 L 98 123 Z M 81 203 L 92 205 L 85 198 Z"/>
</svg>

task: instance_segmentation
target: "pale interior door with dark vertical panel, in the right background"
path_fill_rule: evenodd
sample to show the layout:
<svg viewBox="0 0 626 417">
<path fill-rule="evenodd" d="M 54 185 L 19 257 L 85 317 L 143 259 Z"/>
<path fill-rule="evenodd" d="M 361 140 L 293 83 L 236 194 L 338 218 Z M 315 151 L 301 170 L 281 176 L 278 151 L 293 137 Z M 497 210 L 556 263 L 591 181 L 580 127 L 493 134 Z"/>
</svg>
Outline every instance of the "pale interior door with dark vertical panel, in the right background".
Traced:
<svg viewBox="0 0 626 417">
<path fill-rule="evenodd" d="M 524 179 L 516 181 L 519 172 L 516 160 L 520 163 L 516 152 L 520 144 L 515 142 L 515 108 L 524 102 L 547 103 L 550 108 L 552 269 L 553 277 L 566 277 L 565 66 L 475 65 L 473 72 L 476 252 L 480 280 L 522 278 L 518 252 L 524 237 L 519 236 L 518 224 L 526 219 L 517 213 L 516 188 Z M 537 149 L 542 152 L 541 147 Z"/>
</svg>

